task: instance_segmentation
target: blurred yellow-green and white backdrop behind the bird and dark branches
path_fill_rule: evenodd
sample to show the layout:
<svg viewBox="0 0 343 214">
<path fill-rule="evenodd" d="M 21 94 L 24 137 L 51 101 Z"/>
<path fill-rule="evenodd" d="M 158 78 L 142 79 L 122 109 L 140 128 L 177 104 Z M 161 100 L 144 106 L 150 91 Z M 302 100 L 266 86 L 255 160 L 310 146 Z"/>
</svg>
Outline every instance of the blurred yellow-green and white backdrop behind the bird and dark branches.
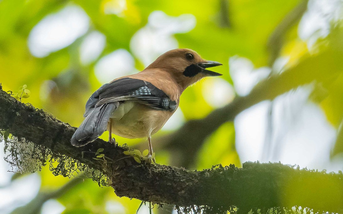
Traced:
<svg viewBox="0 0 343 214">
<path fill-rule="evenodd" d="M 165 51 L 190 48 L 223 63 L 213 68 L 223 76 L 206 78 L 182 94 L 180 107 L 154 136 L 163 141 L 187 121 L 247 96 L 262 79 L 289 69 L 297 69 L 299 78 L 319 72 L 324 78 L 250 106 L 222 124 L 191 148 L 196 155 L 186 165 L 187 151 L 163 145 L 154 150 L 158 163 L 189 169 L 281 161 L 338 172 L 342 66 L 327 59 L 343 60 L 342 6 L 342 0 L 0 0 L 0 82 L 5 91 L 26 84 L 31 95 L 22 102 L 78 126 L 93 91 L 143 70 Z M 321 66 L 308 63 L 314 57 Z M 144 139 L 116 140 L 147 149 Z M 5 156 L 1 151 L 0 213 L 123 214 L 135 213 L 141 203 L 90 179 L 72 183 L 55 177 L 48 167 L 34 174 L 8 172 L 15 168 Z M 139 213 L 149 209 L 143 206 Z"/>
</svg>

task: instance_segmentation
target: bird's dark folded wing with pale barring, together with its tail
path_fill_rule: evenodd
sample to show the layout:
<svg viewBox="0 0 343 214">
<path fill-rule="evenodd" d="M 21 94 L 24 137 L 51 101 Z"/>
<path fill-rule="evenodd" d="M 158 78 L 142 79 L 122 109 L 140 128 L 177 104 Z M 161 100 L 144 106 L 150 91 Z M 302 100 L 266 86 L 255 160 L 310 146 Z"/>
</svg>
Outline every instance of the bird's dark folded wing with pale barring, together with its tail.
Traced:
<svg viewBox="0 0 343 214">
<path fill-rule="evenodd" d="M 151 83 L 132 78 L 121 78 L 107 83 L 96 90 L 86 102 L 84 121 L 75 131 L 71 144 L 84 146 L 104 133 L 111 114 L 122 101 L 135 101 L 153 109 L 174 111 L 176 101 L 170 98 Z"/>
</svg>

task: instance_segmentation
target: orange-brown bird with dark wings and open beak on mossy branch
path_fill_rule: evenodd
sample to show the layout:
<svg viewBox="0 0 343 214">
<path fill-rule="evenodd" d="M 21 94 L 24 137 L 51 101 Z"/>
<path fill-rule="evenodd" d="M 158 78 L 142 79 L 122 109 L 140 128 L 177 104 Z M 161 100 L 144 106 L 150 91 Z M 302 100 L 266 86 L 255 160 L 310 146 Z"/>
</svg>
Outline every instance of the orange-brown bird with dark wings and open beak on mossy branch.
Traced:
<svg viewBox="0 0 343 214">
<path fill-rule="evenodd" d="M 173 49 L 143 71 L 104 84 L 87 100 L 85 119 L 73 134 L 71 144 L 85 146 L 108 130 L 109 142 L 113 142 L 112 134 L 147 138 L 151 156 L 151 135 L 176 111 L 181 93 L 204 77 L 221 76 L 206 69 L 219 65 L 222 64 L 202 59 L 191 49 Z"/>
</svg>

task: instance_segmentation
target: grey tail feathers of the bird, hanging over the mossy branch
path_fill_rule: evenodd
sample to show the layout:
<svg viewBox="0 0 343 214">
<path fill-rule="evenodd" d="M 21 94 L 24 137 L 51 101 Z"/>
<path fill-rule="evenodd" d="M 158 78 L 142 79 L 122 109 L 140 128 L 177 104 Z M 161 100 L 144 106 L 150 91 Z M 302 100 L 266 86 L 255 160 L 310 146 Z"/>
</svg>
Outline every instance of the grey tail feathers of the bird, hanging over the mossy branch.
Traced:
<svg viewBox="0 0 343 214">
<path fill-rule="evenodd" d="M 119 102 L 111 102 L 95 107 L 76 129 L 71 144 L 81 147 L 96 140 L 106 130 L 109 117 L 118 105 Z"/>
</svg>

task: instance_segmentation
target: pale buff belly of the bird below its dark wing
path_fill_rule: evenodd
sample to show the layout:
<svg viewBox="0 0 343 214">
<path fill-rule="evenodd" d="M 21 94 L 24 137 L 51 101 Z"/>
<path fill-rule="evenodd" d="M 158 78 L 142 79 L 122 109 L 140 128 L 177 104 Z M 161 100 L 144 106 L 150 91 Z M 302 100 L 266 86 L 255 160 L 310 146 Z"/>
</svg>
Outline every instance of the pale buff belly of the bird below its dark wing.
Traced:
<svg viewBox="0 0 343 214">
<path fill-rule="evenodd" d="M 111 116 L 112 133 L 125 138 L 146 138 L 156 133 L 173 114 L 125 101 Z"/>
</svg>

